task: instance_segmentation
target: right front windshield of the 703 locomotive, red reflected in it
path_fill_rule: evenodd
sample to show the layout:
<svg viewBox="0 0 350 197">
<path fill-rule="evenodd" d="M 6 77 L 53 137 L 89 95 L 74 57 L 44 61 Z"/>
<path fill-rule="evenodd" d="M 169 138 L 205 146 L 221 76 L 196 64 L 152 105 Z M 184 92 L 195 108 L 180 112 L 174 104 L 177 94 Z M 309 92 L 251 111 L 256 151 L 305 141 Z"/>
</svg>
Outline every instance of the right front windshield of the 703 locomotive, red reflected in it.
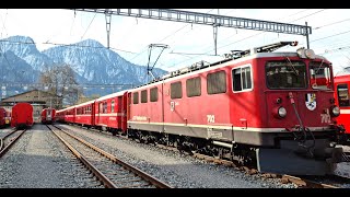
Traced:
<svg viewBox="0 0 350 197">
<path fill-rule="evenodd" d="M 320 61 L 310 62 L 310 84 L 313 89 L 329 90 L 330 84 L 330 69 L 329 66 Z"/>
</svg>

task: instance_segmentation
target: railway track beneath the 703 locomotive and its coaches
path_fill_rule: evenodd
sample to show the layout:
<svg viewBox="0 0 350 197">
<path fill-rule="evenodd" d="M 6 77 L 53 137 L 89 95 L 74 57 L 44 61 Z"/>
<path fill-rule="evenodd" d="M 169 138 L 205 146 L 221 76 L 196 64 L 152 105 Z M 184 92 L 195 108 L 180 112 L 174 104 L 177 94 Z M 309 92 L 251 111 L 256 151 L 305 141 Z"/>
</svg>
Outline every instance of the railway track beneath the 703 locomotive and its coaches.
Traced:
<svg viewBox="0 0 350 197">
<path fill-rule="evenodd" d="M 81 127 L 80 127 L 81 128 Z M 85 128 L 83 128 L 85 129 Z M 98 130 L 101 131 L 101 130 Z M 101 131 L 104 135 L 109 135 L 109 132 L 104 132 Z M 130 140 L 125 136 L 118 136 L 119 138 Z M 241 165 L 237 162 L 233 161 L 228 161 L 228 160 L 222 160 L 218 159 L 214 157 L 206 155 L 206 154 L 200 154 L 200 153 L 187 153 L 179 151 L 177 148 L 174 147 L 167 147 L 164 144 L 155 144 L 155 147 L 164 149 L 164 150 L 170 150 L 170 151 L 175 151 L 175 152 L 182 152 L 185 154 L 188 154 L 189 157 L 194 157 L 196 159 L 205 160 L 207 162 L 212 162 L 215 164 L 222 164 L 229 167 L 234 167 L 235 170 L 244 171 L 246 174 L 259 174 L 259 172 L 256 169 L 252 169 L 249 166 L 244 166 Z M 345 152 L 343 157 L 347 157 L 347 159 L 350 159 L 350 152 Z M 293 183 L 295 184 L 299 188 L 341 188 L 341 185 L 343 184 L 350 184 L 350 178 L 339 176 L 339 175 L 327 175 L 327 176 L 293 176 L 293 175 L 288 175 L 288 174 L 270 174 L 270 173 L 264 173 L 260 174 L 261 177 L 264 178 L 279 178 L 281 183 L 288 184 L 288 183 Z"/>
</svg>

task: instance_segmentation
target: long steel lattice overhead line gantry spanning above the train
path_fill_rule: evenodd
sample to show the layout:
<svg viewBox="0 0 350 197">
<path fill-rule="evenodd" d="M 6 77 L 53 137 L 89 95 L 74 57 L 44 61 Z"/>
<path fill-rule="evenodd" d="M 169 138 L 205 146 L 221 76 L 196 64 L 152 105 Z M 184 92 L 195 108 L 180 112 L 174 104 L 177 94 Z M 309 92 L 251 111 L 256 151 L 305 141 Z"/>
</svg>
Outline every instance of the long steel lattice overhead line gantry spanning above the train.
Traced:
<svg viewBox="0 0 350 197">
<path fill-rule="evenodd" d="M 214 27 L 214 44 L 218 38 L 218 26 L 244 28 L 254 31 L 275 32 L 283 34 L 295 34 L 306 36 L 307 48 L 308 35 L 312 34 L 312 27 L 305 25 L 296 25 L 289 23 L 280 23 L 272 21 L 261 21 L 245 18 L 234 18 L 228 15 L 209 14 L 200 12 L 190 12 L 173 9 L 70 9 L 84 12 L 103 13 L 106 15 L 107 46 L 109 48 L 110 18 L 112 15 L 133 16 L 163 21 L 175 21 L 191 24 L 211 25 Z M 217 55 L 217 45 L 215 55 Z"/>
</svg>

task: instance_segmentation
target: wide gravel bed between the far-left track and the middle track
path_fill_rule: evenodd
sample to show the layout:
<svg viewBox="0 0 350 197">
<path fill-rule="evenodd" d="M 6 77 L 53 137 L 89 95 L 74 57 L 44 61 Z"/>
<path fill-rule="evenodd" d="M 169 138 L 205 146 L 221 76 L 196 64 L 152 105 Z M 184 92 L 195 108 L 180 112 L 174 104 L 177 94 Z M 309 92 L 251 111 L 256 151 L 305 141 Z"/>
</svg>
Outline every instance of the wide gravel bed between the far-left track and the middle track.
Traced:
<svg viewBox="0 0 350 197">
<path fill-rule="evenodd" d="M 91 188 L 95 183 L 46 126 L 36 124 L 0 159 L 0 188 Z"/>
</svg>

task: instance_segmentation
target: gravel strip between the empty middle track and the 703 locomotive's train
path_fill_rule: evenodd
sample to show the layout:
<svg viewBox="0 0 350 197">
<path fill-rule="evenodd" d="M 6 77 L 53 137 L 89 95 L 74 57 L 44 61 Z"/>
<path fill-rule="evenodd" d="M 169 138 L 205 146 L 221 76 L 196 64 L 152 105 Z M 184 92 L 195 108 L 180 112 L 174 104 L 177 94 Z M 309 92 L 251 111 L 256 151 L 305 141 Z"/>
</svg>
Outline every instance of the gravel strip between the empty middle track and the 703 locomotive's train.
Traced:
<svg viewBox="0 0 350 197">
<path fill-rule="evenodd" d="M 176 188 L 294 188 L 277 179 L 262 179 L 245 173 L 196 160 L 177 152 L 137 143 L 94 130 L 61 125 L 97 147 Z"/>
</svg>

